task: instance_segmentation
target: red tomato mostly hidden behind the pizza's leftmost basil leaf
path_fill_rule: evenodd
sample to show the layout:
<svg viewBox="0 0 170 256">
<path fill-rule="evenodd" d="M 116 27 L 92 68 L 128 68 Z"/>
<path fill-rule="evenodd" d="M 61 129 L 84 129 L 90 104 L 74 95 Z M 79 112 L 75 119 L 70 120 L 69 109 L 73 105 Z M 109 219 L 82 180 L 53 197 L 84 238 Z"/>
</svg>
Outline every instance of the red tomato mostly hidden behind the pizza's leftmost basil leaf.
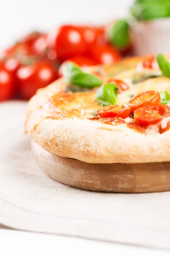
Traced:
<svg viewBox="0 0 170 256">
<path fill-rule="evenodd" d="M 93 58 L 88 58 L 88 57 L 83 57 L 83 56 L 75 56 L 75 57 L 69 58 L 69 60 L 64 61 L 61 64 L 61 66 L 59 67 L 59 71 L 58 71 L 59 77 L 63 76 L 63 68 L 64 68 L 65 64 L 68 63 L 68 61 L 72 61 L 75 64 L 77 64 L 79 67 L 82 67 L 82 68 L 97 65 L 96 60 L 94 60 Z"/>
</svg>

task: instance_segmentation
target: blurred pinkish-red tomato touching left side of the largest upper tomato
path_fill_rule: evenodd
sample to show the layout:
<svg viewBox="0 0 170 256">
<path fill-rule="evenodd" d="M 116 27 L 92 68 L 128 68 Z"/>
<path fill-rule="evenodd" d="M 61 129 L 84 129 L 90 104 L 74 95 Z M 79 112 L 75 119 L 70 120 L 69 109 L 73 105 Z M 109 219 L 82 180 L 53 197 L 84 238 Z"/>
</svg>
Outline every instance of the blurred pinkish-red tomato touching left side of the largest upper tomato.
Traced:
<svg viewBox="0 0 170 256">
<path fill-rule="evenodd" d="M 41 35 L 32 44 L 32 52 L 35 55 L 44 55 L 47 51 L 47 35 Z"/>
</svg>

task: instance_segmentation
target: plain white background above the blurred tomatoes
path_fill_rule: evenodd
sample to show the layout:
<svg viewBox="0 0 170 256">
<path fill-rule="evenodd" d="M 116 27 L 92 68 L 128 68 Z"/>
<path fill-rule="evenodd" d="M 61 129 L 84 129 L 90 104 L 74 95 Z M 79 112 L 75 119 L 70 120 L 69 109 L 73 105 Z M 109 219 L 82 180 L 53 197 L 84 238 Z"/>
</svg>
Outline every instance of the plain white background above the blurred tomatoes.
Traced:
<svg viewBox="0 0 170 256">
<path fill-rule="evenodd" d="M 127 17 L 133 0 L 1 0 L 0 50 L 34 29 L 61 23 L 103 24 Z"/>
</svg>

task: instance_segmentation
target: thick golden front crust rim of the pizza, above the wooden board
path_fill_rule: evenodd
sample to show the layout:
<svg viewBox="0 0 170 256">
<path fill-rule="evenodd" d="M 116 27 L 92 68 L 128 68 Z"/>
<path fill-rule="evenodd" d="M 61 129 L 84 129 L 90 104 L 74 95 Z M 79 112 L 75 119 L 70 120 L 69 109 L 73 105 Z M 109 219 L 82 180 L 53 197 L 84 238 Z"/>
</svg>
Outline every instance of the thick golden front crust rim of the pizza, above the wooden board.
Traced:
<svg viewBox="0 0 170 256">
<path fill-rule="evenodd" d="M 42 119 L 33 111 L 26 130 L 52 154 L 87 163 L 147 163 L 170 160 L 170 130 L 140 134 L 125 125 L 107 125 L 89 119 Z"/>
</svg>

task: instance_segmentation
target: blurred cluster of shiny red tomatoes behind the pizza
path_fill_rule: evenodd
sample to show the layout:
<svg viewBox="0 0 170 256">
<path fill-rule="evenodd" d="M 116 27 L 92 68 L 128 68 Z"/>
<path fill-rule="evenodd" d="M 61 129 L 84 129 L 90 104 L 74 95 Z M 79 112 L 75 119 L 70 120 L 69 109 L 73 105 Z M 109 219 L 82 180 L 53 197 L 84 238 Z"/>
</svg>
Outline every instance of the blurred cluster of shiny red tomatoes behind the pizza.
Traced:
<svg viewBox="0 0 170 256">
<path fill-rule="evenodd" d="M 31 98 L 62 76 L 65 61 L 85 67 L 112 64 L 121 57 L 104 26 L 65 25 L 49 34 L 33 32 L 0 55 L 0 101 Z"/>
</svg>

